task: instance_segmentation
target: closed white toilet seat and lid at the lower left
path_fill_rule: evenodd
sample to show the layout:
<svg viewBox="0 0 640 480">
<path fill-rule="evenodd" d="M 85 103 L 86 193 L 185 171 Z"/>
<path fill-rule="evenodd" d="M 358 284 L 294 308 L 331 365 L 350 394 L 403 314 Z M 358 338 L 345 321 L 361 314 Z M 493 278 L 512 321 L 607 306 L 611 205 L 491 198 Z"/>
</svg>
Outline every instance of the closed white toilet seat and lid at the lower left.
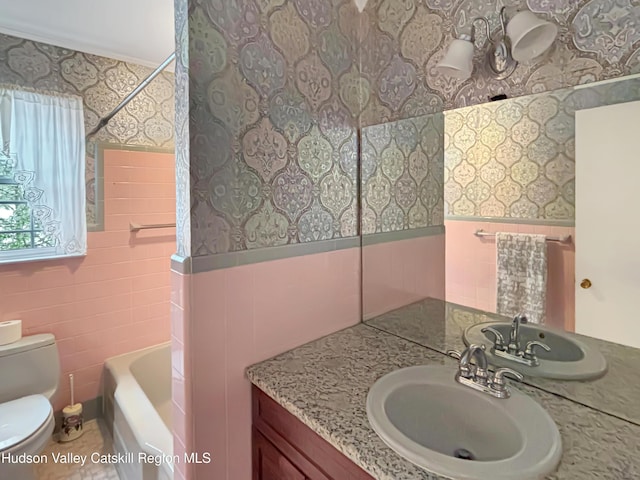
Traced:
<svg viewBox="0 0 640 480">
<path fill-rule="evenodd" d="M 53 408 L 43 395 L 0 403 L 0 453 L 39 453 L 54 426 Z"/>
</svg>

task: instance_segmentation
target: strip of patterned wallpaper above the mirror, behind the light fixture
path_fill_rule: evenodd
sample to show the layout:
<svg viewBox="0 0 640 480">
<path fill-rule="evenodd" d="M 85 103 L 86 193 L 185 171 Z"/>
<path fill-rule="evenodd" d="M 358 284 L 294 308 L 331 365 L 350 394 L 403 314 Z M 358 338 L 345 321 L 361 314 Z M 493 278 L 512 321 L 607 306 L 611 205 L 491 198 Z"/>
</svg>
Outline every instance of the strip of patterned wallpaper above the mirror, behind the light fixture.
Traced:
<svg viewBox="0 0 640 480">
<path fill-rule="evenodd" d="M 529 8 L 559 25 L 546 57 L 498 81 L 482 72 L 483 51 L 476 49 L 469 80 L 437 75 L 435 65 L 450 41 L 469 31 L 469 20 L 488 15 L 497 31 L 496 12 L 505 4 L 511 15 Z M 363 125 L 640 72 L 637 0 L 369 0 L 363 18 Z M 480 44 L 483 34 L 477 37 Z"/>
</svg>

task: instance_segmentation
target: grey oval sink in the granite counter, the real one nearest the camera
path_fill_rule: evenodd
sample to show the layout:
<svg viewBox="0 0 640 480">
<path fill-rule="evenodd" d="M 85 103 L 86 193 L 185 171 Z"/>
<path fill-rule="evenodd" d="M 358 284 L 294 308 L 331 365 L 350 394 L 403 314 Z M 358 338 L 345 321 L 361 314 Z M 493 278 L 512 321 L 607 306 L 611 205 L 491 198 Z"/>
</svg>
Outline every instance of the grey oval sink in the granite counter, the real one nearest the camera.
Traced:
<svg viewBox="0 0 640 480">
<path fill-rule="evenodd" d="M 454 377 L 442 366 L 385 375 L 367 397 L 371 426 L 399 455 L 437 475 L 533 480 L 555 470 L 560 433 L 540 405 L 518 391 L 497 399 Z"/>
</svg>

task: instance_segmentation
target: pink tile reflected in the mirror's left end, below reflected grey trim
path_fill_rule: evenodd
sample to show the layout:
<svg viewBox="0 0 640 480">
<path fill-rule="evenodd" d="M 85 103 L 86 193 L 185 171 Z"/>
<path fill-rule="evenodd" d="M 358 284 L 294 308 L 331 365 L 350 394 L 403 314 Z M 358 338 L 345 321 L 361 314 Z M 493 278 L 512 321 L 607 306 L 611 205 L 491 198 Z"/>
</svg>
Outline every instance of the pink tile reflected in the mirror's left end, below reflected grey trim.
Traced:
<svg viewBox="0 0 640 480">
<path fill-rule="evenodd" d="M 364 318 L 425 297 L 445 296 L 445 236 L 367 245 L 362 249 Z"/>
</svg>

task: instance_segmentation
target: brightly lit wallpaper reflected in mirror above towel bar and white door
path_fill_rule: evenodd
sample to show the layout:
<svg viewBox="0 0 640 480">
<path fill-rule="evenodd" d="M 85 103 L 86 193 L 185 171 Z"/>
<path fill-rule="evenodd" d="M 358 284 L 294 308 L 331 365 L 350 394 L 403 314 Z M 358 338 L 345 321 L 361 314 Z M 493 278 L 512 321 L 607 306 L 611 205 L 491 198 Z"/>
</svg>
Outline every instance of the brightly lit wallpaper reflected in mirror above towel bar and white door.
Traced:
<svg viewBox="0 0 640 480">
<path fill-rule="evenodd" d="M 572 222 L 575 111 L 640 99 L 640 78 L 445 112 L 448 216 Z"/>
</svg>

